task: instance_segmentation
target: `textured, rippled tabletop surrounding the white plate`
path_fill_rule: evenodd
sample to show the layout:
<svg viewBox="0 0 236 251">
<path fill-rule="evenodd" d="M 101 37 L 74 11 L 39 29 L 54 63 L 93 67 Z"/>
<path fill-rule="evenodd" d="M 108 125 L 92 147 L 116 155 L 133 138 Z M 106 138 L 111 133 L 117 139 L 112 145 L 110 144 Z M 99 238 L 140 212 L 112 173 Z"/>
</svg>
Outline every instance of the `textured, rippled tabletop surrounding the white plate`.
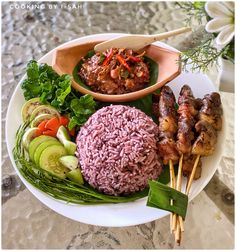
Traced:
<svg viewBox="0 0 236 251">
<path fill-rule="evenodd" d="M 30 2 L 28 2 L 29 4 Z M 52 4 L 52 3 L 51 3 Z M 71 3 L 70 3 L 71 4 Z M 5 117 L 27 61 L 89 34 L 154 34 L 184 25 L 174 2 L 2 3 L 2 248 L 4 249 L 232 249 L 234 248 L 234 94 L 221 92 L 227 135 L 219 167 L 189 204 L 180 247 L 169 216 L 123 228 L 86 225 L 47 208 L 22 184 L 6 149 Z M 34 5 L 34 6 L 33 6 Z M 196 27 L 195 27 L 196 28 Z M 183 49 L 191 37 L 165 41 Z M 217 72 L 211 72 L 214 76 Z"/>
</svg>

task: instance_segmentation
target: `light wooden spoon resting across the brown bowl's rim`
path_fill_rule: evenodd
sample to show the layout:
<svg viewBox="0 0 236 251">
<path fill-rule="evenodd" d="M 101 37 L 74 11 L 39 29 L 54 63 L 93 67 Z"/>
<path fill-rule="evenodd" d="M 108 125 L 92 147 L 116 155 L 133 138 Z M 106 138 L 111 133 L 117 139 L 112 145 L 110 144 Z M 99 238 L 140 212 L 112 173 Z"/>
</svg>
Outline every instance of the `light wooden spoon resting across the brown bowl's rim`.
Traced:
<svg viewBox="0 0 236 251">
<path fill-rule="evenodd" d="M 127 35 L 97 44 L 94 47 L 94 50 L 103 52 L 110 48 L 128 48 L 138 51 L 139 49 L 142 49 L 143 47 L 155 41 L 163 40 L 168 37 L 176 36 L 189 31 L 191 31 L 190 27 L 182 27 L 180 29 L 167 31 L 156 35 Z"/>
</svg>

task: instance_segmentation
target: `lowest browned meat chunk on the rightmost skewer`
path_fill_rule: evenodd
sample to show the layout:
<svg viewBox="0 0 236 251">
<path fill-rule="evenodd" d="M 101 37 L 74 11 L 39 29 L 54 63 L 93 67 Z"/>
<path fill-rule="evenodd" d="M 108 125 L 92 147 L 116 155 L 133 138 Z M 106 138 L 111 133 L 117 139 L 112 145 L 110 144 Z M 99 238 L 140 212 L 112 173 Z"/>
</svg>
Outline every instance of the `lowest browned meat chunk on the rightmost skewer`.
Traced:
<svg viewBox="0 0 236 251">
<path fill-rule="evenodd" d="M 211 155 L 215 150 L 217 141 L 217 132 L 214 127 L 207 121 L 198 121 L 195 129 L 200 135 L 193 144 L 192 154 L 199 154 L 202 156 Z"/>
</svg>

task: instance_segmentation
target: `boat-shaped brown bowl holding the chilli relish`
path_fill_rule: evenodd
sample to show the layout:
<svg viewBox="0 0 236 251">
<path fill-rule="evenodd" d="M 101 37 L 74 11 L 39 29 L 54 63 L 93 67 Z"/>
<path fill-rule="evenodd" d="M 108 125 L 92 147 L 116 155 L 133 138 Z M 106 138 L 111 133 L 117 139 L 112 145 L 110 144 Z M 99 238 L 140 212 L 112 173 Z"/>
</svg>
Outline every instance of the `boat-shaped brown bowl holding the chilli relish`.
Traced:
<svg viewBox="0 0 236 251">
<path fill-rule="evenodd" d="M 102 42 L 102 41 L 100 41 Z M 89 50 L 100 42 L 84 43 L 73 45 L 66 48 L 56 49 L 53 55 L 52 67 L 60 75 L 70 74 L 72 76 L 73 70 L 78 62 L 84 57 Z M 137 100 L 153 93 L 163 85 L 167 84 L 172 79 L 176 78 L 181 72 L 181 65 L 178 62 L 180 53 L 169 49 L 165 49 L 156 45 L 149 45 L 145 48 L 146 56 L 158 63 L 158 78 L 156 84 L 146 87 L 142 90 L 108 95 L 98 92 L 93 92 L 72 80 L 72 86 L 77 91 L 83 94 L 91 94 L 96 100 L 103 102 L 127 102 Z"/>
</svg>

